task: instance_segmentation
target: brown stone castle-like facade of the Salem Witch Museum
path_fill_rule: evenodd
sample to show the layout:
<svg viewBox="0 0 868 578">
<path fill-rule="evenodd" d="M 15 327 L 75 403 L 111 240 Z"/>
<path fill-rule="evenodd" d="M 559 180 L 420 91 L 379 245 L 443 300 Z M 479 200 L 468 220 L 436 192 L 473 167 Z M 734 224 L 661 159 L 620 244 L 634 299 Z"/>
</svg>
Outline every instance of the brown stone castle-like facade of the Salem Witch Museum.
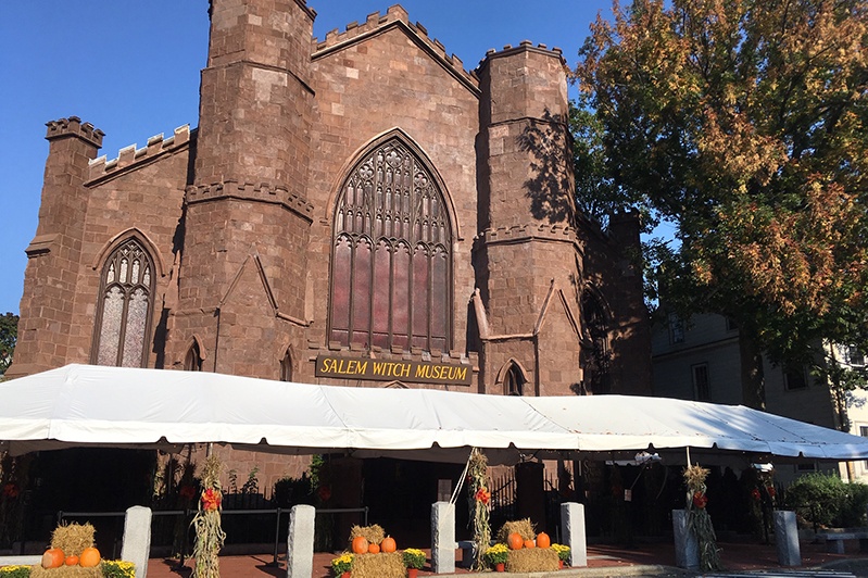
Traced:
<svg viewBox="0 0 868 578">
<path fill-rule="evenodd" d="M 316 41 L 303 0 L 211 4 L 197 129 L 106 160 L 91 125 L 49 123 L 9 377 L 93 363 L 117 338 L 104 327 L 106 263 L 131 239 L 153 271 L 139 293 L 148 318 L 118 317 L 119 347 L 142 331 L 149 367 L 650 392 L 638 221 L 602 231 L 576 214 L 559 51 L 523 42 L 467 72 L 400 5 Z M 353 185 L 368 168 L 369 190 Z M 455 365 L 470 385 L 316 377 L 320 355 Z"/>
</svg>

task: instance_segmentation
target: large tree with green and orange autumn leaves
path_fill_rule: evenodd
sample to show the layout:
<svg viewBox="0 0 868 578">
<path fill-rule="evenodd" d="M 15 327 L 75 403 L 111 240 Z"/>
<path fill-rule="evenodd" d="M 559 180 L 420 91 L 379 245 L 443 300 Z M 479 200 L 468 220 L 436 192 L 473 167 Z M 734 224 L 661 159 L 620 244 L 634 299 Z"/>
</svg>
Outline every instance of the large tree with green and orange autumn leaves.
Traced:
<svg viewBox="0 0 868 578">
<path fill-rule="evenodd" d="M 575 76 L 625 201 L 672 222 L 655 282 L 682 317 L 739 325 L 744 403 L 762 353 L 805 362 L 868 328 L 868 4 L 614 4 Z"/>
</svg>

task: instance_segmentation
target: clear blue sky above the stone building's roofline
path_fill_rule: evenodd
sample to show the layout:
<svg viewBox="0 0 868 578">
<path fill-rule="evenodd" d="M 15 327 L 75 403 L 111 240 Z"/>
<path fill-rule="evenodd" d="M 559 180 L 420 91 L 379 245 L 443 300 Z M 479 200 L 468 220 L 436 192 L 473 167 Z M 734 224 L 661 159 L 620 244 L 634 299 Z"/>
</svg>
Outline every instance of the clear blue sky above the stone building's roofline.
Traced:
<svg viewBox="0 0 868 578">
<path fill-rule="evenodd" d="M 309 0 L 314 36 L 343 30 L 395 0 Z M 521 40 L 557 47 L 570 66 L 611 0 L 403 0 L 467 70 Z M 196 127 L 207 51 L 207 0 L 0 0 L 0 314 L 18 312 L 37 224 L 45 124 L 78 116 L 105 133 L 100 154 Z"/>
</svg>

